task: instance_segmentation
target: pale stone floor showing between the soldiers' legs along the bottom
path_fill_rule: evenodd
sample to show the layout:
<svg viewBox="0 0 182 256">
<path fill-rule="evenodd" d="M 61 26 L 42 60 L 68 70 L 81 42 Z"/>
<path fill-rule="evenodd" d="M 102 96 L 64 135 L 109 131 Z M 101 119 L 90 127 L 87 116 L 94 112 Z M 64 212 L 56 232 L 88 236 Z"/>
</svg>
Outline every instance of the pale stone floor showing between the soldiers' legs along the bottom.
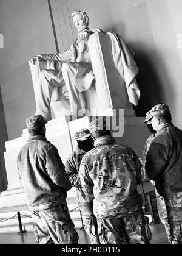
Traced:
<svg viewBox="0 0 182 256">
<path fill-rule="evenodd" d="M 152 232 L 151 244 L 168 244 L 167 236 L 163 224 L 150 225 Z M 89 244 L 89 238 L 83 229 L 77 229 L 79 235 L 79 244 Z M 25 232 L 22 234 L 8 233 L 0 234 L 0 244 L 36 244 L 33 232 Z"/>
</svg>

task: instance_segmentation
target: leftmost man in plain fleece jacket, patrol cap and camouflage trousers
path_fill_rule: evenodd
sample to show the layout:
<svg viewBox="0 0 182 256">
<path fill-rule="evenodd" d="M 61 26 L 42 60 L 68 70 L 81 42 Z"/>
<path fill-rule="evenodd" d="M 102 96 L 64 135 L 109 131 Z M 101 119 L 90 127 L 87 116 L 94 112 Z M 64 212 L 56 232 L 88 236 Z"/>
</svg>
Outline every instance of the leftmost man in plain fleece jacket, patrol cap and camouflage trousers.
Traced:
<svg viewBox="0 0 182 256">
<path fill-rule="evenodd" d="M 26 120 L 30 134 L 18 154 L 17 165 L 37 243 L 74 244 L 78 233 L 67 208 L 71 184 L 58 150 L 45 138 L 41 115 Z"/>
</svg>

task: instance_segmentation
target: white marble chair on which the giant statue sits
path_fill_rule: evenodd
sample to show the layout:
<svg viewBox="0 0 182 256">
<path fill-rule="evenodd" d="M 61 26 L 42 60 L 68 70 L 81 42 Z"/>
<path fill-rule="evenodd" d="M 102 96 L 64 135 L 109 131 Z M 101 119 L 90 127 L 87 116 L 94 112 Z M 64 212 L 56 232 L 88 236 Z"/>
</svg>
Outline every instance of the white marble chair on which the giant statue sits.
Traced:
<svg viewBox="0 0 182 256">
<path fill-rule="evenodd" d="M 124 108 L 126 116 L 135 116 L 132 104 L 127 96 L 126 85 L 115 67 L 110 37 L 103 32 L 95 32 L 88 40 L 93 74 L 95 75 L 96 101 L 90 102 L 90 116 L 113 116 L 113 109 Z M 38 74 L 44 69 L 55 69 L 50 62 L 39 61 L 31 66 L 35 100 L 37 102 Z M 52 119 L 70 115 L 69 100 L 56 100 L 59 88 L 54 88 L 50 102 Z M 94 106 L 94 107 L 92 107 Z"/>
</svg>

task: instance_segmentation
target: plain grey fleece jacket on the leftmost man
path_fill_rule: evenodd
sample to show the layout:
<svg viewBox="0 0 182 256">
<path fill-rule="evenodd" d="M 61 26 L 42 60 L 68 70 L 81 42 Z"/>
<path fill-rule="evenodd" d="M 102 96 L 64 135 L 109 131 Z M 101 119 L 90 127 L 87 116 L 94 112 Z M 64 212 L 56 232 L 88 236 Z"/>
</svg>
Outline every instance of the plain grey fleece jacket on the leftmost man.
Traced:
<svg viewBox="0 0 182 256">
<path fill-rule="evenodd" d="M 29 138 L 18 154 L 17 166 L 27 205 L 65 201 L 71 183 L 58 150 L 44 136 Z"/>
</svg>

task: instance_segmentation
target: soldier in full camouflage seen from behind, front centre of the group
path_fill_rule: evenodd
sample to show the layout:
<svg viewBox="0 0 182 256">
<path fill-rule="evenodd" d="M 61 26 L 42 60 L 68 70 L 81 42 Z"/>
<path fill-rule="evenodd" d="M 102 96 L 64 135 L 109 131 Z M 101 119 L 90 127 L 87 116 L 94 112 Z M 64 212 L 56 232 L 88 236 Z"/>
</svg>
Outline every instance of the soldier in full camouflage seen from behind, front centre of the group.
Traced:
<svg viewBox="0 0 182 256">
<path fill-rule="evenodd" d="M 149 243 L 148 219 L 137 192 L 137 183 L 141 183 L 137 155 L 129 146 L 116 144 L 103 118 L 90 123 L 89 130 L 95 148 L 84 155 L 79 168 L 84 193 L 81 212 L 88 219 L 86 232 L 94 226 L 96 216 L 99 243 Z"/>
</svg>

